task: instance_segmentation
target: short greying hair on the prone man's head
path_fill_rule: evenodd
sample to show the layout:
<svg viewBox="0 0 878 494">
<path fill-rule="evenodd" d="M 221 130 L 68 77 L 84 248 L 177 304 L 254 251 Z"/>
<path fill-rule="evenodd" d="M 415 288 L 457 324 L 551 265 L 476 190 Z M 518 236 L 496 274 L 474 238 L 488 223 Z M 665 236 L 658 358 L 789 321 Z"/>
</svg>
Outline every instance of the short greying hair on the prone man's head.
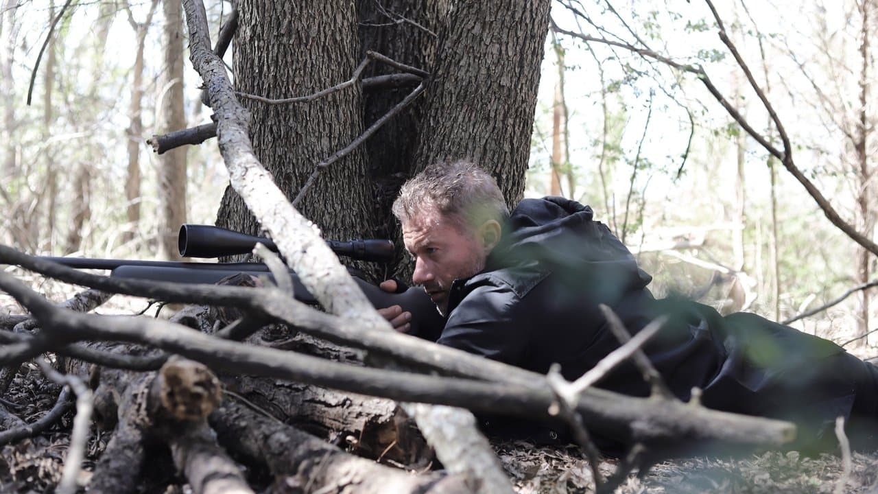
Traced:
<svg viewBox="0 0 878 494">
<path fill-rule="evenodd" d="M 468 160 L 428 166 L 402 185 L 392 211 L 403 223 L 435 212 L 473 228 L 489 220 L 503 223 L 509 217 L 497 182 Z"/>
</svg>

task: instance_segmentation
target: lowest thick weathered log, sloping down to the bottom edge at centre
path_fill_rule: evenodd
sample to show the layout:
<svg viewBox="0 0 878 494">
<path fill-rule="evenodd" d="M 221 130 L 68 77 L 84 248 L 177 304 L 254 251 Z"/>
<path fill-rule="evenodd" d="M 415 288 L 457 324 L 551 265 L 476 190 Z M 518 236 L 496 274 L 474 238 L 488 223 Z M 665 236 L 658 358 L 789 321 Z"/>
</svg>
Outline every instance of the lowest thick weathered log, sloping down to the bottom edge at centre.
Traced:
<svg viewBox="0 0 878 494">
<path fill-rule="evenodd" d="M 320 485 L 326 491 L 363 494 L 469 491 L 458 476 L 412 476 L 358 458 L 234 400 L 224 402 L 209 420 L 219 443 L 241 454 L 241 461 L 267 465 L 276 479 L 273 492 L 310 491 Z"/>
</svg>

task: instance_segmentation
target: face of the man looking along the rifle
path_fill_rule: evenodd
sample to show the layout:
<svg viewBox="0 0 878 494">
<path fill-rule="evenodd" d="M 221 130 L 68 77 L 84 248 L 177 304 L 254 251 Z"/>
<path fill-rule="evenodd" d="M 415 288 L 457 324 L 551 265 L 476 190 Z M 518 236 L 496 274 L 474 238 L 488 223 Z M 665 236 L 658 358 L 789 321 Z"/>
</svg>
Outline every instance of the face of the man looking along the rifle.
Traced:
<svg viewBox="0 0 878 494">
<path fill-rule="evenodd" d="M 402 240 L 414 257 L 412 281 L 421 285 L 443 316 L 451 282 L 485 267 L 484 243 L 473 229 L 441 214 L 420 214 L 402 224 Z"/>
</svg>

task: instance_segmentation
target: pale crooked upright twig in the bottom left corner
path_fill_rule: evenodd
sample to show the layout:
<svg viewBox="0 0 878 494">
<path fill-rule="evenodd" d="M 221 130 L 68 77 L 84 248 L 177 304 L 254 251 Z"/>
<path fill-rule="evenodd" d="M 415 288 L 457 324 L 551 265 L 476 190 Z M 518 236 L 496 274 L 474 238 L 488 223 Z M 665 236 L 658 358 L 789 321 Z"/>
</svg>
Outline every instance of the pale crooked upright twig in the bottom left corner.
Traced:
<svg viewBox="0 0 878 494">
<path fill-rule="evenodd" d="M 64 375 L 54 370 L 46 360 L 38 359 L 37 364 L 40 366 L 43 374 L 46 374 L 46 377 L 51 381 L 68 386 L 76 393 L 76 417 L 73 418 L 70 446 L 67 449 L 67 458 L 64 460 L 61 483 L 58 484 L 58 488 L 55 490 L 59 494 L 74 494 L 76 492 L 76 479 L 79 477 L 79 471 L 83 467 L 85 444 L 89 440 L 91 410 L 94 407 L 91 389 L 88 389 L 83 384 L 83 381 L 75 375 Z"/>
</svg>

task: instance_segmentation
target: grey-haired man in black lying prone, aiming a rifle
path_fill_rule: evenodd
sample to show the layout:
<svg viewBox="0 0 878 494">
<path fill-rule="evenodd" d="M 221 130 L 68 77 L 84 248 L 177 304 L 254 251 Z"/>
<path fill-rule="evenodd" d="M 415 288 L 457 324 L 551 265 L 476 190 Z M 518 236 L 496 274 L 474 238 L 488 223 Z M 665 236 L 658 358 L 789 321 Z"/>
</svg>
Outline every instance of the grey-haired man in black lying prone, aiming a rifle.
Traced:
<svg viewBox="0 0 878 494">
<path fill-rule="evenodd" d="M 709 408 L 792 420 L 800 428 L 795 447 L 830 446 L 838 416 L 859 446 L 878 440 L 876 367 L 760 316 L 656 300 L 651 276 L 590 207 L 547 197 L 522 200 L 509 214 L 493 178 L 461 161 L 409 180 L 393 214 L 414 257 L 413 282 L 445 317 L 441 333 L 415 336 L 542 374 L 557 362 L 575 380 L 619 346 L 600 304 L 632 335 L 668 316 L 644 352 L 681 400 L 698 388 Z M 411 315 L 399 307 L 381 313 L 409 329 Z M 631 364 L 598 386 L 650 393 Z"/>
</svg>

